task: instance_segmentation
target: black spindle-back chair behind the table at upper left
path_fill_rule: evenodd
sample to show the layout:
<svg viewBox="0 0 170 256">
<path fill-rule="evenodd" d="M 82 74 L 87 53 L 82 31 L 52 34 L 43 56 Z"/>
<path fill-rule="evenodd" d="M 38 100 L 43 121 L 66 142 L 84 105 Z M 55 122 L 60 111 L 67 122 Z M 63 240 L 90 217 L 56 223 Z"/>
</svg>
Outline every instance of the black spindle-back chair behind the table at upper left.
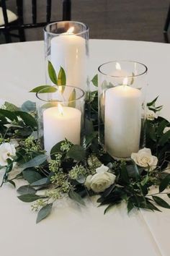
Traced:
<svg viewBox="0 0 170 256">
<path fill-rule="evenodd" d="M 52 0 L 46 0 L 46 19 L 45 22 L 37 22 L 37 0 L 32 1 L 32 22 L 24 23 L 23 0 L 16 0 L 17 20 L 9 20 L 9 10 L 6 9 L 6 0 L 1 0 L 2 14 L 4 16 L 4 24 L 0 25 L 0 33 L 4 33 L 6 43 L 12 43 L 12 36 L 19 38 L 21 42 L 25 41 L 24 30 L 33 27 L 44 27 L 51 21 Z M 41 0 L 40 0 L 41 1 Z M 56 0 L 55 0 L 56 1 Z M 63 20 L 71 20 L 71 0 L 63 0 Z M 18 33 L 14 34 L 13 31 Z"/>
</svg>

